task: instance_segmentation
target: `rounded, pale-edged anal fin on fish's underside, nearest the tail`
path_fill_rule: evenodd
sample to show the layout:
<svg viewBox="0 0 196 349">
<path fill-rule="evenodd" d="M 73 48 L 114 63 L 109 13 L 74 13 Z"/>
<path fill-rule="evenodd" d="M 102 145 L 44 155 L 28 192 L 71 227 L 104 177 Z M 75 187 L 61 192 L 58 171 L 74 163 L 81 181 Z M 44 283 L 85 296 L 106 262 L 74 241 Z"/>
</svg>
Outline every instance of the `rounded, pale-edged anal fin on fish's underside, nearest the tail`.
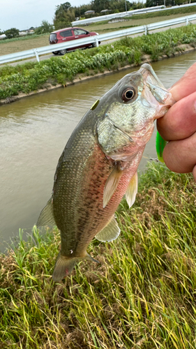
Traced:
<svg viewBox="0 0 196 349">
<path fill-rule="evenodd" d="M 119 236 L 120 232 L 121 230 L 119 228 L 119 225 L 116 223 L 116 219 L 113 216 L 110 222 L 105 226 L 105 228 L 98 232 L 96 239 L 101 242 L 112 241 Z"/>
</svg>

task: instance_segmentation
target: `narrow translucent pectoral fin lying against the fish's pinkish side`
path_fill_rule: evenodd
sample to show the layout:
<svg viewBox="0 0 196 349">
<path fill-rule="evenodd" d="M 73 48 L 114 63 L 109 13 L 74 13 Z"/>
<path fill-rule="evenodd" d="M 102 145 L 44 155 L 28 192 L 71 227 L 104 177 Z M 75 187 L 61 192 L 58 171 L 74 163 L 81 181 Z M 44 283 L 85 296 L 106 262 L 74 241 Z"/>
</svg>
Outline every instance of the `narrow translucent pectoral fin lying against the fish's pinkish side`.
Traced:
<svg viewBox="0 0 196 349">
<path fill-rule="evenodd" d="M 103 208 L 107 206 L 108 202 L 112 198 L 112 195 L 115 193 L 117 186 L 119 185 L 119 181 L 122 177 L 123 170 L 119 168 L 118 165 L 115 166 L 110 176 L 107 178 L 105 182 L 105 188 L 103 191 Z"/>
</svg>

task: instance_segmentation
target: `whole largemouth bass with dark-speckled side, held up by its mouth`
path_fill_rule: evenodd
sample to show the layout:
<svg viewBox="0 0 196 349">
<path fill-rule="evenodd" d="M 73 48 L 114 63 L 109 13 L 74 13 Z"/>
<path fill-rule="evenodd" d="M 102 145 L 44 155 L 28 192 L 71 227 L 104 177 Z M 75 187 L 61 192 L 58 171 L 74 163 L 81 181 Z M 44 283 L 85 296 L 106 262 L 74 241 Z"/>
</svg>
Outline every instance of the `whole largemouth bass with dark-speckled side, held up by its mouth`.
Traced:
<svg viewBox="0 0 196 349">
<path fill-rule="evenodd" d="M 123 195 L 129 207 L 137 193 L 137 167 L 153 121 L 174 103 L 153 68 L 124 76 L 86 112 L 68 140 L 54 175 L 52 197 L 37 225 L 56 224 L 61 251 L 53 279 L 60 281 L 93 239 L 112 241 L 120 229 L 114 218 Z"/>
</svg>

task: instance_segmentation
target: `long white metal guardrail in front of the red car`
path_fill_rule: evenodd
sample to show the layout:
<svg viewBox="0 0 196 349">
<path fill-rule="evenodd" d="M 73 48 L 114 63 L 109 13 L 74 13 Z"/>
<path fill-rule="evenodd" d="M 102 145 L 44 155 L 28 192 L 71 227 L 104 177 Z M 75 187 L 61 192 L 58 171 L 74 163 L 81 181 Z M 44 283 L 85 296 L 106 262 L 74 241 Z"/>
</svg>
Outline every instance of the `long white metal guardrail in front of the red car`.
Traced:
<svg viewBox="0 0 196 349">
<path fill-rule="evenodd" d="M 95 43 L 96 46 L 98 46 L 99 41 L 111 40 L 114 38 L 121 38 L 123 36 L 129 36 L 129 35 L 139 34 L 139 33 L 147 34 L 148 31 L 153 29 L 169 27 L 174 24 L 180 24 L 184 22 L 188 24 L 192 20 L 196 20 L 196 15 L 189 15 L 186 17 L 175 18 L 174 20 L 167 20 L 163 22 L 156 22 L 156 23 L 141 25 L 138 27 L 132 27 L 132 28 L 118 30 L 118 31 L 111 31 L 110 33 L 107 33 L 107 34 L 100 34 L 96 36 L 89 36 L 88 38 L 72 40 L 72 41 L 69 41 L 68 43 L 48 45 L 44 47 L 38 47 L 33 50 L 15 52 L 12 54 L 5 54 L 3 56 L 0 56 L 0 64 L 5 64 L 11 61 L 18 61 L 19 59 L 26 59 L 26 58 L 31 58 L 35 56 L 37 61 L 40 61 L 39 54 L 47 54 L 53 51 L 59 51 L 67 48 L 78 47 L 80 45 L 82 46 L 87 43 Z"/>
</svg>

